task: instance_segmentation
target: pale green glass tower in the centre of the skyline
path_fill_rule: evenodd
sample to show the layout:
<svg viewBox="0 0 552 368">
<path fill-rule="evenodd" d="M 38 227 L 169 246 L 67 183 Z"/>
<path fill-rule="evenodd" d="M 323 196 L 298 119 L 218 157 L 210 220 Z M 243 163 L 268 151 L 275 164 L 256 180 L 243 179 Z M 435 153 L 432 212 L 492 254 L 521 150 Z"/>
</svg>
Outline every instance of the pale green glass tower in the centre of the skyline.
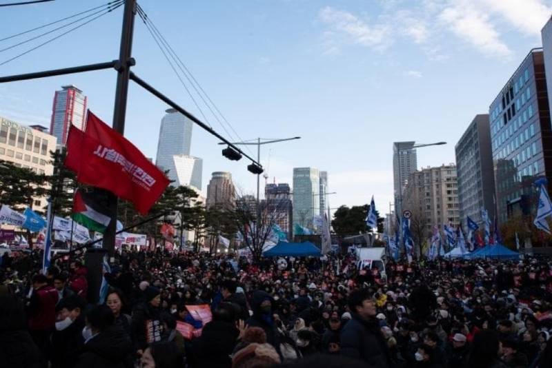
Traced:
<svg viewBox="0 0 552 368">
<path fill-rule="evenodd" d="M 320 213 L 320 174 L 313 167 L 293 169 L 293 223 L 313 228 L 313 216 Z"/>
</svg>

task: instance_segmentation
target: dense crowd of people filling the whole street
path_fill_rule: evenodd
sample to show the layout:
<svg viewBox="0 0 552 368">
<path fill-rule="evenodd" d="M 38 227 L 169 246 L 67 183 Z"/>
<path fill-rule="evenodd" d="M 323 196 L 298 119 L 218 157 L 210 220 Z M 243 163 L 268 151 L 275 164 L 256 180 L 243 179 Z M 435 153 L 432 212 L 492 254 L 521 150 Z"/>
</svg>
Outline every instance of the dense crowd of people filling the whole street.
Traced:
<svg viewBox="0 0 552 368">
<path fill-rule="evenodd" d="M 382 274 L 352 254 L 127 250 L 100 304 L 83 259 L 40 268 L 39 251 L 3 256 L 1 367 L 552 367 L 549 258 L 391 261 Z M 190 313 L 203 305 L 212 318 Z"/>
</svg>

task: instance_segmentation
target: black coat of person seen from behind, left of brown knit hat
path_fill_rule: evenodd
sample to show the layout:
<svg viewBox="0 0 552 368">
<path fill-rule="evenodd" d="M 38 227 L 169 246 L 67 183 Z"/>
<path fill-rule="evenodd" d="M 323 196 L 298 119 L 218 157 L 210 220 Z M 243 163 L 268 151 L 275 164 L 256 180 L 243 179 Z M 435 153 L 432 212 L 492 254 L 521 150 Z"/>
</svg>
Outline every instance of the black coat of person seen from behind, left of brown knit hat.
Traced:
<svg viewBox="0 0 552 368">
<path fill-rule="evenodd" d="M 192 367 L 230 368 L 230 354 L 237 344 L 239 331 L 232 323 L 212 320 L 192 340 Z"/>
</svg>

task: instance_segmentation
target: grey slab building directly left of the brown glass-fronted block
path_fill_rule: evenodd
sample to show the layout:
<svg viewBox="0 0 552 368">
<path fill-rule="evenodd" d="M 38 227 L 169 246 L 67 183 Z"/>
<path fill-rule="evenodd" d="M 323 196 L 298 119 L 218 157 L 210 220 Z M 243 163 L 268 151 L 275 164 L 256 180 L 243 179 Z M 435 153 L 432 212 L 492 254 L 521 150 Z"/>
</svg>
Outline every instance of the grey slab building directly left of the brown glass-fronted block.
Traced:
<svg viewBox="0 0 552 368">
<path fill-rule="evenodd" d="M 481 209 L 493 213 L 495 176 L 489 114 L 478 114 L 455 145 L 460 222 L 466 218 L 483 227 Z"/>
</svg>

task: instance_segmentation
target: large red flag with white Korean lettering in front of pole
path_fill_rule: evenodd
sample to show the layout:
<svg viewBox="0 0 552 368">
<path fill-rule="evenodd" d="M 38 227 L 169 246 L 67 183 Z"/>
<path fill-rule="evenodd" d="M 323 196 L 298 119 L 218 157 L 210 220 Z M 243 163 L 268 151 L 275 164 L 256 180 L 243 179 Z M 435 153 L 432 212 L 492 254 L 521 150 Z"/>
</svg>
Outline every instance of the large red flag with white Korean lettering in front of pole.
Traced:
<svg viewBox="0 0 552 368">
<path fill-rule="evenodd" d="M 86 164 L 82 164 L 86 163 Z M 135 145 L 88 111 L 86 133 L 69 129 L 66 167 L 77 181 L 113 192 L 146 214 L 169 184 Z"/>
</svg>

